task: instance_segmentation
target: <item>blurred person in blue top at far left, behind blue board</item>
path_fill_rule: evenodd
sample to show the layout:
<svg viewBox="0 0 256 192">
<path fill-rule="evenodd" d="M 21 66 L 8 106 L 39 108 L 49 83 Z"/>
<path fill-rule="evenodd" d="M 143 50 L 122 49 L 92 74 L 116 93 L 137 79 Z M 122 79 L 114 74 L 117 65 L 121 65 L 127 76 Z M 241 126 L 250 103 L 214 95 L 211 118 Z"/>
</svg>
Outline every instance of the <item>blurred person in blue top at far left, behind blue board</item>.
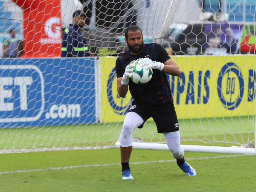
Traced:
<svg viewBox="0 0 256 192">
<path fill-rule="evenodd" d="M 19 40 L 15 38 L 15 30 L 11 29 L 10 37 L 3 43 L 3 57 L 16 58 L 19 55 Z"/>
</svg>

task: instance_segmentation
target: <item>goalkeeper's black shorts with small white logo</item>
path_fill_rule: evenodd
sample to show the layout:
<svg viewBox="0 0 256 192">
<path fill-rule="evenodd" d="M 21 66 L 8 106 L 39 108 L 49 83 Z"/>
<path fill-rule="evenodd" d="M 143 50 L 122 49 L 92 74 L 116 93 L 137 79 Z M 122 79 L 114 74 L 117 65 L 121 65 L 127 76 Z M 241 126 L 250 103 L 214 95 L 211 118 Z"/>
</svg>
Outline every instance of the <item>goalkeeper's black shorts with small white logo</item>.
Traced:
<svg viewBox="0 0 256 192">
<path fill-rule="evenodd" d="M 173 102 L 151 104 L 148 102 L 133 101 L 129 112 L 135 112 L 143 119 L 143 124 L 150 117 L 157 125 L 158 133 L 179 131 L 178 119 Z M 143 128 L 143 124 L 138 128 Z"/>
</svg>

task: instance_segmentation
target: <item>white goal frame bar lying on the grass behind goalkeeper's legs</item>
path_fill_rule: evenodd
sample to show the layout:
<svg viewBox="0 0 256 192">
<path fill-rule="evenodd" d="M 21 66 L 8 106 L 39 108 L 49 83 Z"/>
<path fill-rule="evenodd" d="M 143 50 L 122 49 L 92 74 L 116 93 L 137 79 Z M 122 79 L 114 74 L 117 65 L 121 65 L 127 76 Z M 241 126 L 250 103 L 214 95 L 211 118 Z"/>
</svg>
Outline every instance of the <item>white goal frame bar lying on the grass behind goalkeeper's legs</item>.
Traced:
<svg viewBox="0 0 256 192">
<path fill-rule="evenodd" d="M 184 151 L 189 152 L 208 152 L 208 153 L 231 153 L 231 154 L 255 154 L 254 148 L 233 148 L 233 147 L 215 147 L 199 145 L 181 145 Z M 116 147 L 120 147 L 120 142 L 116 142 Z M 154 149 L 169 151 L 167 144 L 162 143 L 133 143 L 133 148 Z"/>
</svg>

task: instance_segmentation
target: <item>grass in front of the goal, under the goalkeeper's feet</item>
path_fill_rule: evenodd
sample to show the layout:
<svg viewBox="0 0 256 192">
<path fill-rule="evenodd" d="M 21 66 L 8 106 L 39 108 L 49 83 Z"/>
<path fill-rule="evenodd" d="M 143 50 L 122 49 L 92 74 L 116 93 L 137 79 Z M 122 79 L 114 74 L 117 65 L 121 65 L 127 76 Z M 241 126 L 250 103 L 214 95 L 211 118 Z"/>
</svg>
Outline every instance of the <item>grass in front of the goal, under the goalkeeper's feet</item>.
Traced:
<svg viewBox="0 0 256 192">
<path fill-rule="evenodd" d="M 187 162 L 197 171 L 196 177 L 189 177 L 177 167 L 169 151 L 134 149 L 130 160 L 134 180 L 126 181 L 122 180 L 117 148 L 0 154 L 0 158 L 1 192 L 253 192 L 256 189 L 254 155 L 185 152 Z"/>
</svg>

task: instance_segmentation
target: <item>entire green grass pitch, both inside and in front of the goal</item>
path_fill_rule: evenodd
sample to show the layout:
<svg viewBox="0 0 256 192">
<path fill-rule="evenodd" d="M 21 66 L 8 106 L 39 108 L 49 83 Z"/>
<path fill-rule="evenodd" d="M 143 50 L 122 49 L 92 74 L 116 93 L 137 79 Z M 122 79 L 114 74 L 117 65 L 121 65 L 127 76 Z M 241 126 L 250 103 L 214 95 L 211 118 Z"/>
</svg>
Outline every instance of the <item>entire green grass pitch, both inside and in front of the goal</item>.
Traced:
<svg viewBox="0 0 256 192">
<path fill-rule="evenodd" d="M 182 144 L 239 145 L 254 139 L 253 117 L 179 120 Z M 114 145 L 121 124 L 0 129 L 0 148 Z M 134 137 L 164 141 L 147 122 Z M 203 141 L 203 142 L 200 142 Z M 232 143 L 213 143 L 215 141 Z M 256 156 L 185 152 L 186 176 L 169 151 L 134 149 L 123 181 L 117 148 L 0 154 L 0 192 L 253 192 Z M 20 171 L 19 171 L 20 170 Z"/>
</svg>

